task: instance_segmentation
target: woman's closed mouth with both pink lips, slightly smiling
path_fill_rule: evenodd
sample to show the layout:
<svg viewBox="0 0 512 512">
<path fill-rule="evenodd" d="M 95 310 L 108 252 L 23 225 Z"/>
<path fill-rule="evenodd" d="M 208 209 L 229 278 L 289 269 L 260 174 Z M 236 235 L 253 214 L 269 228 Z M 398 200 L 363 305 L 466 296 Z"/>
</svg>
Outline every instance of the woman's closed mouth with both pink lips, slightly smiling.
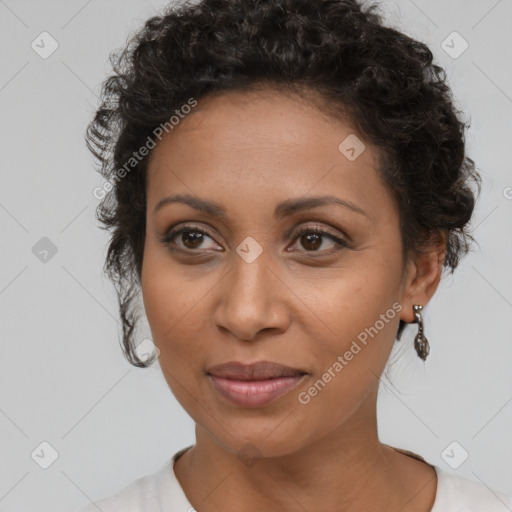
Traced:
<svg viewBox="0 0 512 512">
<path fill-rule="evenodd" d="M 229 362 L 208 368 L 214 389 L 231 404 L 256 408 L 275 402 L 295 388 L 308 373 L 270 361 L 244 365 Z"/>
</svg>

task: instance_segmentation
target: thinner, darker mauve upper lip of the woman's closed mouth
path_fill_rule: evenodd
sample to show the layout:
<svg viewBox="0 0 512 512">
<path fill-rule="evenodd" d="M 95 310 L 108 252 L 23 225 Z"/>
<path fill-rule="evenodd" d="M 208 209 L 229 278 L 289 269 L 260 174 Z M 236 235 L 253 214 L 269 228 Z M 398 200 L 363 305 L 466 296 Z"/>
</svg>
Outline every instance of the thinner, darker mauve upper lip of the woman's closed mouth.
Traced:
<svg viewBox="0 0 512 512">
<path fill-rule="evenodd" d="M 297 377 L 305 375 L 307 372 L 272 361 L 258 361 L 251 364 L 229 361 L 207 368 L 206 373 L 224 379 L 265 380 L 278 377 Z"/>
</svg>

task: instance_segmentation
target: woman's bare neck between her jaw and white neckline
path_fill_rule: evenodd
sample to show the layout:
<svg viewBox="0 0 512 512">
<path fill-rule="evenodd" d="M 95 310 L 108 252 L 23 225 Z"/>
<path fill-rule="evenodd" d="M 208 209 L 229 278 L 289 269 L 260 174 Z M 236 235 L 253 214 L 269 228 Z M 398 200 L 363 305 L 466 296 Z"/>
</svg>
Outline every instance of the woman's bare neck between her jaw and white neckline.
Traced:
<svg viewBox="0 0 512 512">
<path fill-rule="evenodd" d="M 435 487 L 424 492 L 423 503 L 412 500 L 420 480 L 410 473 L 413 468 L 416 477 L 421 473 L 425 487 L 433 470 L 380 443 L 373 398 L 329 435 L 290 453 L 246 463 L 196 426 L 196 444 L 176 462 L 176 476 L 201 512 L 426 512 Z"/>
</svg>

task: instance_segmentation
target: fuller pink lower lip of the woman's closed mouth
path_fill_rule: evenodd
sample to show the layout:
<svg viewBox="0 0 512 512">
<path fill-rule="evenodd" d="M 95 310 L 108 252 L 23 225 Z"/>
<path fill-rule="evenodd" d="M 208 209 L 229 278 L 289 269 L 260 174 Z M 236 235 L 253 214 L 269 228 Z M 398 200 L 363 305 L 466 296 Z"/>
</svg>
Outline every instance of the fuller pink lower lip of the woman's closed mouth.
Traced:
<svg viewBox="0 0 512 512">
<path fill-rule="evenodd" d="M 305 377 L 279 377 L 266 380 L 233 380 L 209 375 L 215 388 L 240 407 L 261 407 L 291 391 Z"/>
</svg>

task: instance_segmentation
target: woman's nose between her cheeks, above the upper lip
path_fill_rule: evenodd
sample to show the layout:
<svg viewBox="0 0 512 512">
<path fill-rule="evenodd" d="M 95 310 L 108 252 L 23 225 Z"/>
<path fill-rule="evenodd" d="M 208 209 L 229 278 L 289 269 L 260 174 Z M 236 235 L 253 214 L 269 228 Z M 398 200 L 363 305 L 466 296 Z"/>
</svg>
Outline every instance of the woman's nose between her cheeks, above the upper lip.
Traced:
<svg viewBox="0 0 512 512">
<path fill-rule="evenodd" d="M 290 321 L 287 288 L 263 254 L 252 263 L 234 255 L 223 281 L 213 315 L 221 330 L 245 341 L 259 339 L 262 331 L 286 331 Z"/>
</svg>

